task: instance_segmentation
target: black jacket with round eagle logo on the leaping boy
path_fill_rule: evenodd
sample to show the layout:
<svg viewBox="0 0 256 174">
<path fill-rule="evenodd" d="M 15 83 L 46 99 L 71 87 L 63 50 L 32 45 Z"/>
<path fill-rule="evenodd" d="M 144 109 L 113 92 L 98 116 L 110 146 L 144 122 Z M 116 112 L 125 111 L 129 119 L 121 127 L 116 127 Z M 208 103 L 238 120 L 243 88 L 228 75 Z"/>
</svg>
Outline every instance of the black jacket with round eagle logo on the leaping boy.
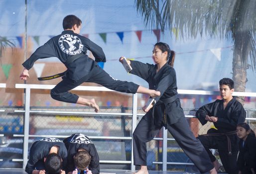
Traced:
<svg viewBox="0 0 256 174">
<path fill-rule="evenodd" d="M 86 55 L 87 50 L 92 52 L 95 61 Z M 84 56 L 66 64 L 70 57 L 80 53 Z M 51 38 L 37 48 L 22 65 L 29 70 L 36 60 L 49 57 L 57 57 L 67 67 L 67 77 L 75 82 L 89 74 L 92 68 L 97 65 L 96 62 L 106 62 L 105 54 L 100 46 L 72 30 L 65 30 L 60 35 Z"/>
</svg>

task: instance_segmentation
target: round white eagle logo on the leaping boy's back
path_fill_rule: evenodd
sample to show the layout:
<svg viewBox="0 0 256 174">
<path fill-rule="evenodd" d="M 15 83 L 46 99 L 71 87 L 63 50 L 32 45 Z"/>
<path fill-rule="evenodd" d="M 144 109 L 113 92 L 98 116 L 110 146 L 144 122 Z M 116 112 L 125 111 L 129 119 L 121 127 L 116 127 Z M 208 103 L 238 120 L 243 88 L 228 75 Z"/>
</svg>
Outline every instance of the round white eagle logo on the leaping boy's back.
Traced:
<svg viewBox="0 0 256 174">
<path fill-rule="evenodd" d="M 79 37 L 72 34 L 64 34 L 59 39 L 60 49 L 69 55 L 76 55 L 83 51 L 84 45 L 81 44 Z"/>
</svg>

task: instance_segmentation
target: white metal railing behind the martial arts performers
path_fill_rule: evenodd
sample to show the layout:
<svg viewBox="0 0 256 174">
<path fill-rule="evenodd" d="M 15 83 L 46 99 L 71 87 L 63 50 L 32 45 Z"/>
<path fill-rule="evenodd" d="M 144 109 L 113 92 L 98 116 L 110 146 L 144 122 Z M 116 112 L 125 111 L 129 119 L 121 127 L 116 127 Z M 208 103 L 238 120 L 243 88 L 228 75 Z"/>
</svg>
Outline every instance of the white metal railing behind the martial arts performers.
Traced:
<svg viewBox="0 0 256 174">
<path fill-rule="evenodd" d="M 0 87 L 5 87 L 5 85 L 1 85 Z M 101 116 L 131 116 L 132 120 L 132 126 L 131 131 L 135 130 L 135 127 L 137 125 L 137 116 L 143 116 L 144 114 L 137 113 L 137 94 L 132 94 L 132 110 L 131 113 L 112 113 L 112 112 L 69 112 L 69 111 L 54 111 L 54 110 L 31 110 L 30 108 L 30 89 L 52 89 L 55 87 L 54 85 L 27 85 L 27 84 L 16 84 L 15 88 L 24 88 L 25 89 L 25 109 L 24 110 L 14 110 L 15 113 L 24 113 L 24 134 L 14 134 L 13 137 L 23 137 L 23 159 L 12 159 L 14 162 L 23 162 L 23 168 L 25 168 L 25 165 L 27 163 L 27 157 L 28 157 L 28 139 L 30 137 L 56 137 L 56 138 L 66 138 L 66 136 L 52 136 L 52 135 L 29 135 L 29 116 L 30 113 L 47 113 L 47 114 L 76 114 L 76 115 L 101 115 Z M 83 90 L 83 91 L 113 91 L 111 89 L 108 89 L 106 87 L 85 87 L 85 86 L 79 86 L 74 88 L 73 90 Z M 194 94 L 194 95 L 219 95 L 218 91 L 205 91 L 205 90 L 182 90 L 178 89 L 179 94 Z M 234 92 L 233 95 L 236 96 L 253 96 L 256 97 L 255 92 Z M 4 111 L 4 110 L 0 110 Z M 194 118 L 193 115 L 186 115 L 187 118 Z M 256 118 L 247 118 L 247 120 L 256 120 Z M 167 162 L 167 141 L 175 141 L 173 138 L 167 138 L 167 130 L 163 129 L 163 137 L 162 138 L 154 138 L 154 140 L 162 141 L 162 162 L 153 162 L 153 164 L 161 164 L 162 170 L 167 171 L 167 165 L 193 165 L 192 163 L 170 163 Z M 3 136 L 3 135 L 2 135 Z M 109 139 L 109 140 L 132 140 L 132 134 L 131 136 L 89 136 L 91 139 Z M 131 164 L 131 170 L 135 170 L 135 166 L 133 165 L 133 146 L 131 141 L 131 160 L 130 161 L 107 161 L 107 160 L 101 160 L 100 163 L 104 164 Z"/>
</svg>

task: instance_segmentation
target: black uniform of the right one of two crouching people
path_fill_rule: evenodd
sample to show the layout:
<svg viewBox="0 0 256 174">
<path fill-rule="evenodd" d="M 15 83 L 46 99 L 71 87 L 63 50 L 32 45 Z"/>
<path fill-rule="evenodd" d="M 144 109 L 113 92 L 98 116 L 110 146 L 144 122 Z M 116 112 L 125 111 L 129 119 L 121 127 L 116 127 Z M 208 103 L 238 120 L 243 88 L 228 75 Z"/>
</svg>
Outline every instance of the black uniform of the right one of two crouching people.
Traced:
<svg viewBox="0 0 256 174">
<path fill-rule="evenodd" d="M 84 134 L 73 134 L 70 137 L 67 137 L 63 140 L 65 146 L 68 150 L 68 165 L 66 168 L 66 173 L 72 172 L 75 170 L 74 165 L 74 155 L 78 152 L 79 149 L 87 150 L 91 156 L 91 163 L 89 164 L 89 170 L 93 174 L 100 173 L 100 159 L 97 153 L 97 150 L 93 142 Z"/>
</svg>

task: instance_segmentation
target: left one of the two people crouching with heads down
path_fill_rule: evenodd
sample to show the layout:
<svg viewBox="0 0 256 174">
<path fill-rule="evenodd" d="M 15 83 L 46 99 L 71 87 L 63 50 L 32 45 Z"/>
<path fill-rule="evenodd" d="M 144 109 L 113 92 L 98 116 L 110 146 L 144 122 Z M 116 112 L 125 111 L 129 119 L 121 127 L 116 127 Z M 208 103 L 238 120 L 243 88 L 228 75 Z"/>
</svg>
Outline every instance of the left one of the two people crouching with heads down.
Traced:
<svg viewBox="0 0 256 174">
<path fill-rule="evenodd" d="M 28 174 L 65 174 L 62 170 L 67 164 L 67 149 L 57 138 L 42 138 L 30 148 L 25 168 Z"/>
</svg>

